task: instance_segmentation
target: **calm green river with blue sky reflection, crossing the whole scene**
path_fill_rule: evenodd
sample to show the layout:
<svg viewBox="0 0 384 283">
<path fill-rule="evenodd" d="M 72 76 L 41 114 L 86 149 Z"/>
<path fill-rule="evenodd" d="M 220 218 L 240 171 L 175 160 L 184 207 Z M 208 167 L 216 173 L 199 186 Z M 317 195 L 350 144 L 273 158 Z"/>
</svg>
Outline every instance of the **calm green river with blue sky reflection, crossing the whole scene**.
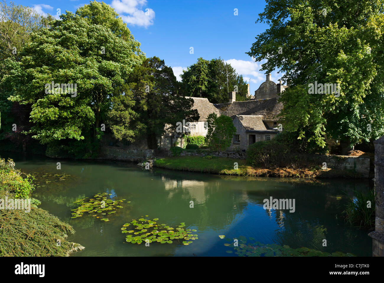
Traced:
<svg viewBox="0 0 384 283">
<path fill-rule="evenodd" d="M 143 170 L 124 162 L 73 161 L 2 152 L 25 173 L 35 172 L 32 197 L 40 207 L 76 230 L 69 239 L 85 247 L 72 256 L 236 256 L 226 251 L 227 239 L 252 237 L 264 244 L 371 256 L 368 231 L 348 226 L 343 206 L 353 190 L 367 190 L 367 180 L 283 179 L 219 176 L 154 168 Z M 61 169 L 57 169 L 57 162 Z M 55 176 L 60 174 L 60 176 Z M 63 175 L 66 174 L 66 175 Z M 65 177 L 63 177 L 65 176 Z M 60 179 L 61 178 L 61 179 Z M 101 221 L 84 213 L 71 218 L 76 199 L 97 193 L 126 199 L 123 208 Z M 295 212 L 264 209 L 263 200 L 295 199 Z M 130 201 L 130 203 L 127 203 Z M 193 201 L 191 208 L 190 201 Z M 198 239 L 183 245 L 131 244 L 121 233 L 124 223 L 148 215 L 170 226 L 184 222 Z M 323 246 L 326 239 L 327 246 Z"/>
</svg>

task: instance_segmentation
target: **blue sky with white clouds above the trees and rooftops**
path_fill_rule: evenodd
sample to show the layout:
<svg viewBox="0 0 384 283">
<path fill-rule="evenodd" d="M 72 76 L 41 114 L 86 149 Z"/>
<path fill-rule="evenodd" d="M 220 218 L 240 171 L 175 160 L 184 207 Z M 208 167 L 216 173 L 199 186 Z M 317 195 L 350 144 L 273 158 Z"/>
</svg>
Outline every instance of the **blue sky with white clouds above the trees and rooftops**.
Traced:
<svg viewBox="0 0 384 283">
<path fill-rule="evenodd" d="M 33 7 L 38 13 L 56 15 L 75 12 L 88 4 L 84 0 L 13 0 Z M 37 2 L 36 2 L 37 1 Z M 7 1 L 8 2 L 8 1 Z M 182 69 L 197 58 L 210 60 L 219 56 L 230 63 L 249 82 L 251 94 L 265 81 L 260 62 L 249 55 L 255 36 L 268 28 L 255 23 L 264 10 L 263 0 L 106 0 L 127 23 L 147 57 L 157 56 L 172 67 L 178 79 Z M 238 15 L 234 15 L 237 9 Z M 194 54 L 190 54 L 193 47 Z M 277 82 L 281 74 L 272 72 Z"/>
</svg>

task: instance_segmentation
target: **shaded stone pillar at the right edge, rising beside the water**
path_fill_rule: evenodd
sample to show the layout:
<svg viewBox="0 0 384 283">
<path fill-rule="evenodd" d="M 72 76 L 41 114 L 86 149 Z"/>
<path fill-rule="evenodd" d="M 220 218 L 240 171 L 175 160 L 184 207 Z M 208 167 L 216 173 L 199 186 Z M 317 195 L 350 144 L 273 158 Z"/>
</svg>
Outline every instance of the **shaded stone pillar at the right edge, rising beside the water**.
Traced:
<svg viewBox="0 0 384 283">
<path fill-rule="evenodd" d="M 372 238 L 372 256 L 384 256 L 384 136 L 375 142 L 375 231 Z"/>
</svg>

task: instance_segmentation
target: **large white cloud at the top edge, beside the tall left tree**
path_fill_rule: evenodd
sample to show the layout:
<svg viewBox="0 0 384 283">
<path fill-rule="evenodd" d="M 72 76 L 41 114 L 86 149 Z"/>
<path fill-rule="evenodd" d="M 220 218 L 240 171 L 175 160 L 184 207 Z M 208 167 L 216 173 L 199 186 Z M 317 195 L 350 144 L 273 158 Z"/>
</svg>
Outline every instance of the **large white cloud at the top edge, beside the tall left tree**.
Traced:
<svg viewBox="0 0 384 283">
<path fill-rule="evenodd" d="M 142 10 L 146 4 L 147 0 L 113 0 L 111 6 L 127 24 L 147 28 L 153 25 L 155 11 L 151 8 Z"/>
</svg>

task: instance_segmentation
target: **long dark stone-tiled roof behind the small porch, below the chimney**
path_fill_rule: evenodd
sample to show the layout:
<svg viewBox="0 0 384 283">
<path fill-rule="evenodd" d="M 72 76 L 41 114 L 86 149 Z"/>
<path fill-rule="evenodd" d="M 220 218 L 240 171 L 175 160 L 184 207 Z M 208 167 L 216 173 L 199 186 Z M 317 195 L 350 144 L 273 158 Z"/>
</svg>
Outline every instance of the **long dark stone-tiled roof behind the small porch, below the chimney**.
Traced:
<svg viewBox="0 0 384 283">
<path fill-rule="evenodd" d="M 232 103 L 221 103 L 215 105 L 220 114 L 230 116 L 232 119 L 236 115 L 262 115 L 264 121 L 279 121 L 283 110 L 283 104 L 278 98 L 257 99 L 248 101 L 235 101 Z"/>
</svg>

